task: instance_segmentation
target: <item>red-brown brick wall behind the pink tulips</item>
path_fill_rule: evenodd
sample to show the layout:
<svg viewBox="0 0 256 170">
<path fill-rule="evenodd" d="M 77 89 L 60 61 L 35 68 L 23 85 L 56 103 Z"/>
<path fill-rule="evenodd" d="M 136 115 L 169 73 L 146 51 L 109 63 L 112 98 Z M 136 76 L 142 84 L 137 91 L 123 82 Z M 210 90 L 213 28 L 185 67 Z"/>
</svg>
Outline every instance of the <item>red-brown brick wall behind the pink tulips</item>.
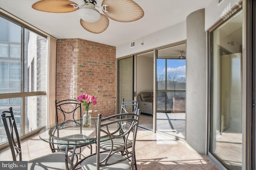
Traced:
<svg viewBox="0 0 256 170">
<path fill-rule="evenodd" d="M 90 108 L 92 117 L 116 114 L 116 47 L 84 39 L 58 39 L 56 99 L 73 99 L 82 93 L 97 97 L 98 103 Z"/>
</svg>

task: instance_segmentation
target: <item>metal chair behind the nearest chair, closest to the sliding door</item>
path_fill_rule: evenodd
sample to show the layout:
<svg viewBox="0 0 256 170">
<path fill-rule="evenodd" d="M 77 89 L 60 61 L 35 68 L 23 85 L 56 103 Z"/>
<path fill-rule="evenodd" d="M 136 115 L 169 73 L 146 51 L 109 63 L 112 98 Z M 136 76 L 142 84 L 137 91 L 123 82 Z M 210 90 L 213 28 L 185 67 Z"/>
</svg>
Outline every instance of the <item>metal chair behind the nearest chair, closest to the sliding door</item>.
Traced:
<svg viewBox="0 0 256 170">
<path fill-rule="evenodd" d="M 140 109 L 138 109 L 140 104 L 140 101 L 134 101 L 134 100 L 126 100 L 124 101 L 124 99 L 122 100 L 122 104 L 121 104 L 121 110 L 119 115 L 119 119 L 124 119 L 124 118 L 128 118 L 128 117 L 132 117 L 132 114 L 137 113 L 138 110 L 140 111 Z M 125 115 L 125 117 L 123 117 L 122 113 L 128 113 Z M 130 114 L 129 114 L 130 113 Z M 122 127 L 126 126 L 126 121 L 121 122 Z M 126 142 L 125 142 L 126 141 Z M 113 143 L 114 143 L 114 147 L 113 150 L 122 150 L 124 147 L 127 148 L 131 148 L 133 141 L 131 141 L 130 139 L 125 139 L 125 137 L 123 138 L 119 138 L 119 139 L 113 139 Z M 124 145 L 126 143 L 126 146 Z M 111 141 L 104 141 L 100 144 L 100 148 L 104 149 L 104 150 L 109 150 L 111 148 Z M 121 152 L 122 154 L 125 154 L 124 152 Z M 136 164 L 136 156 L 135 156 L 135 152 L 134 152 L 134 165 L 135 165 L 135 170 L 137 170 L 137 164 Z"/>
</svg>

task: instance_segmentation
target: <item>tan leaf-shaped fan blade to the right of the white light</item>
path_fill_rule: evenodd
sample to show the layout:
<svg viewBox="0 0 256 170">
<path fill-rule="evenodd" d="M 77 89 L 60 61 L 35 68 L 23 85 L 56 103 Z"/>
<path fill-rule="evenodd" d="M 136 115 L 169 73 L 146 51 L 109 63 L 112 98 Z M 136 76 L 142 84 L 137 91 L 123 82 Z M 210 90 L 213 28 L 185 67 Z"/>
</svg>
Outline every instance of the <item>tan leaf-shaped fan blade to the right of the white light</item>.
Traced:
<svg viewBox="0 0 256 170">
<path fill-rule="evenodd" d="M 103 0 L 102 11 L 119 22 L 132 22 L 144 16 L 142 8 L 132 0 Z"/>
</svg>

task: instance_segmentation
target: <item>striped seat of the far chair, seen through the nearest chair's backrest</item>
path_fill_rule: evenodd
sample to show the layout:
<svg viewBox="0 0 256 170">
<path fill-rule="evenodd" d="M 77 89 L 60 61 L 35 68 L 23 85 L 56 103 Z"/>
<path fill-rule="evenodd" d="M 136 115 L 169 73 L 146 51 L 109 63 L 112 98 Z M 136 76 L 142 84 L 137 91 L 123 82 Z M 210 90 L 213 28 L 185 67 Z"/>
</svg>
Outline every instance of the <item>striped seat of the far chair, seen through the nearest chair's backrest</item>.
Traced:
<svg viewBox="0 0 256 170">
<path fill-rule="evenodd" d="M 113 150 L 124 149 L 124 139 L 123 138 L 122 139 L 114 138 L 113 143 L 114 143 Z M 132 141 L 130 141 L 128 139 L 126 145 L 127 145 L 126 146 L 127 148 L 132 147 Z M 103 149 L 111 149 L 111 147 L 112 147 L 111 140 L 101 142 L 100 147 Z"/>
</svg>

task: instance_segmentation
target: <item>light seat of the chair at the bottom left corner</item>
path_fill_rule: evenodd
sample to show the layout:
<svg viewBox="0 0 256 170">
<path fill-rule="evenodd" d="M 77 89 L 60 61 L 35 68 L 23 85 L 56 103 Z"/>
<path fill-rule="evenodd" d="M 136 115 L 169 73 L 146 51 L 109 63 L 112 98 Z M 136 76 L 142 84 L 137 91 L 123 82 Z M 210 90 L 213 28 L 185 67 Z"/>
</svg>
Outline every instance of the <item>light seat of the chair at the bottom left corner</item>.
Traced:
<svg viewBox="0 0 256 170">
<path fill-rule="evenodd" d="M 66 170 L 65 153 L 56 152 L 28 161 L 28 170 Z M 68 168 L 71 169 L 71 160 L 68 158 Z M 47 168 L 46 168 L 47 167 Z"/>
</svg>

